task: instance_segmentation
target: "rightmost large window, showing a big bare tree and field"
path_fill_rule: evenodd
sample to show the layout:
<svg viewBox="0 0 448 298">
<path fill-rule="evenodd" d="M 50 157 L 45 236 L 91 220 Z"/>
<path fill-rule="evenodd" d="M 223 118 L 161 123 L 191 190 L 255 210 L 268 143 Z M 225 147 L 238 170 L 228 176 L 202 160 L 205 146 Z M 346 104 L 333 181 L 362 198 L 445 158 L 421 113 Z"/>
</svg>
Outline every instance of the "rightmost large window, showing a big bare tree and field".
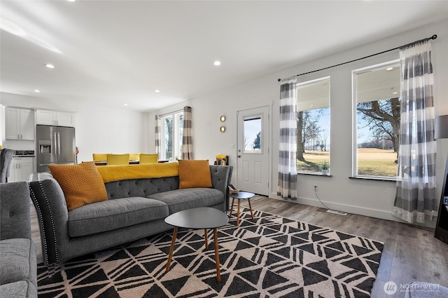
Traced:
<svg viewBox="0 0 448 298">
<path fill-rule="evenodd" d="M 400 135 L 400 63 L 353 71 L 353 176 L 396 176 Z"/>
</svg>

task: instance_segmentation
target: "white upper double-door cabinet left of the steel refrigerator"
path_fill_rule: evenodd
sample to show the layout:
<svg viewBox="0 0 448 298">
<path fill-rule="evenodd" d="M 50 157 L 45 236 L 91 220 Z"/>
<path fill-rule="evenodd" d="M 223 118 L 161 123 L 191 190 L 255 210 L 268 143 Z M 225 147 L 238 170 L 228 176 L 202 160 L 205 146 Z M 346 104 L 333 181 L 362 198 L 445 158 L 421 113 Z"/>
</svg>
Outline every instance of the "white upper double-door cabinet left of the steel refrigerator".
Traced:
<svg viewBox="0 0 448 298">
<path fill-rule="evenodd" d="M 34 110 L 6 107 L 5 139 L 34 140 Z"/>
</svg>

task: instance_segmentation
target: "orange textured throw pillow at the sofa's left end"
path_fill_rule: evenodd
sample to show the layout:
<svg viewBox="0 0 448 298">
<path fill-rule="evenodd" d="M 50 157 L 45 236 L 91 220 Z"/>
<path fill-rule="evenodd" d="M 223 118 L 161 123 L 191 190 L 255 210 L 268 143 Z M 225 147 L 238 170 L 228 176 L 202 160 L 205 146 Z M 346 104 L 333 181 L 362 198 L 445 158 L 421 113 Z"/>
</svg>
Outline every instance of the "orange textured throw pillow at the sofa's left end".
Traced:
<svg viewBox="0 0 448 298">
<path fill-rule="evenodd" d="M 64 191 L 69 211 L 108 199 L 103 178 L 99 175 L 94 162 L 78 165 L 48 165 L 48 168 Z"/>
</svg>

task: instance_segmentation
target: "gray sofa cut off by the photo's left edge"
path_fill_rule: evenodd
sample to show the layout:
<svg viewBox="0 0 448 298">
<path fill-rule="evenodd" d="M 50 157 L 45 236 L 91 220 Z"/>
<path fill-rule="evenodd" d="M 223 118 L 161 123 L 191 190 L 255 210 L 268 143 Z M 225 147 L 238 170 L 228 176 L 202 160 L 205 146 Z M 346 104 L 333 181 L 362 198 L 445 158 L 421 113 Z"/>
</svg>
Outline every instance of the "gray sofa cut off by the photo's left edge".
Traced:
<svg viewBox="0 0 448 298">
<path fill-rule="evenodd" d="M 0 183 L 0 296 L 37 297 L 27 182 Z"/>
</svg>

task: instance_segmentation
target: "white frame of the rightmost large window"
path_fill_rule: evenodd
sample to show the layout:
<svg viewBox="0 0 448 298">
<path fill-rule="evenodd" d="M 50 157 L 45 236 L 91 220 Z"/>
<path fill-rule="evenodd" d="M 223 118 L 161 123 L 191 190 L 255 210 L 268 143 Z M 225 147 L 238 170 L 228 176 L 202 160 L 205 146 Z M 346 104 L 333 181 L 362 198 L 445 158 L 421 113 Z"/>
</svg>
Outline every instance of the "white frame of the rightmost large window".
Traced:
<svg viewBox="0 0 448 298">
<path fill-rule="evenodd" d="M 396 181 L 395 177 L 375 176 L 375 175 L 358 175 L 358 88 L 356 76 L 358 74 L 365 74 L 379 69 L 387 69 L 388 67 L 401 67 L 400 59 L 389 60 L 386 62 L 369 65 L 367 67 L 360 67 L 351 71 L 351 91 L 352 91 L 352 163 L 351 163 L 351 177 L 360 179 L 372 180 L 390 180 Z"/>
</svg>

